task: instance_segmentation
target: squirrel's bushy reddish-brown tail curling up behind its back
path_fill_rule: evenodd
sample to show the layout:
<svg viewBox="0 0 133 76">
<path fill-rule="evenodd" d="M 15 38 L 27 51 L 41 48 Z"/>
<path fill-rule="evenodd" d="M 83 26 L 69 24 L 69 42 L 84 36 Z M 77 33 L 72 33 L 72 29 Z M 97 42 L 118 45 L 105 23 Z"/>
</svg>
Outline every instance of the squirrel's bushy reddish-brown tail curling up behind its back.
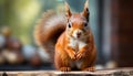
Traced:
<svg viewBox="0 0 133 76">
<path fill-rule="evenodd" d="M 65 30 L 65 18 L 54 11 L 47 11 L 34 29 L 35 43 L 48 53 L 53 54 L 58 37 Z"/>
</svg>

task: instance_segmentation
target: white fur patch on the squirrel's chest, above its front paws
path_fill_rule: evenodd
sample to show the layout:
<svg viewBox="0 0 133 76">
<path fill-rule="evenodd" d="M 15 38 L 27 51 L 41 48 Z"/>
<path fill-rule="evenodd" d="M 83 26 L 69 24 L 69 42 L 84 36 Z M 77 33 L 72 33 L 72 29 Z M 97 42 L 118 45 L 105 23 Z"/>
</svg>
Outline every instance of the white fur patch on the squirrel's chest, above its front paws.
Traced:
<svg viewBox="0 0 133 76">
<path fill-rule="evenodd" d="M 86 45 L 86 43 L 83 40 L 75 40 L 73 37 L 70 39 L 69 46 L 74 48 L 76 52 L 85 45 Z"/>
</svg>

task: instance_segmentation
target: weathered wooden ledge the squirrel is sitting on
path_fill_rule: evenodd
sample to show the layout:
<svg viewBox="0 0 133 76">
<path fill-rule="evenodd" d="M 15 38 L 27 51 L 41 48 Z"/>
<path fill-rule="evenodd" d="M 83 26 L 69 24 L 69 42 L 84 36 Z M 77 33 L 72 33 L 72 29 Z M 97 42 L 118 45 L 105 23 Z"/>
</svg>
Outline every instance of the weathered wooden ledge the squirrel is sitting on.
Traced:
<svg viewBox="0 0 133 76">
<path fill-rule="evenodd" d="M 133 68 L 65 73 L 58 70 L 0 72 L 0 76 L 133 76 Z"/>
</svg>

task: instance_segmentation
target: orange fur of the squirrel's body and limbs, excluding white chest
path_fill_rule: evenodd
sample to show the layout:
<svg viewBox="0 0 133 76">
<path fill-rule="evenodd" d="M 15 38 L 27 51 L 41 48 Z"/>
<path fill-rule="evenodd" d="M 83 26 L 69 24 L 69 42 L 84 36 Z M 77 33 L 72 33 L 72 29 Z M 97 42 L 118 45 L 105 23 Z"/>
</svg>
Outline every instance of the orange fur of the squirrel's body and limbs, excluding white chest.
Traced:
<svg viewBox="0 0 133 76">
<path fill-rule="evenodd" d="M 63 33 L 57 44 L 55 44 L 55 55 L 54 55 L 54 63 L 55 67 L 60 70 L 65 70 L 64 67 L 69 68 L 69 70 L 74 69 L 71 67 L 71 63 L 75 61 L 82 61 L 82 65 L 79 69 L 81 70 L 94 70 L 94 63 L 96 58 L 95 45 L 93 42 L 93 36 L 90 33 L 90 37 L 88 39 L 88 45 L 78 53 L 71 47 L 66 47 L 69 40 Z M 82 57 L 82 58 L 81 58 Z M 64 69 L 63 69 L 64 68 Z"/>
</svg>

